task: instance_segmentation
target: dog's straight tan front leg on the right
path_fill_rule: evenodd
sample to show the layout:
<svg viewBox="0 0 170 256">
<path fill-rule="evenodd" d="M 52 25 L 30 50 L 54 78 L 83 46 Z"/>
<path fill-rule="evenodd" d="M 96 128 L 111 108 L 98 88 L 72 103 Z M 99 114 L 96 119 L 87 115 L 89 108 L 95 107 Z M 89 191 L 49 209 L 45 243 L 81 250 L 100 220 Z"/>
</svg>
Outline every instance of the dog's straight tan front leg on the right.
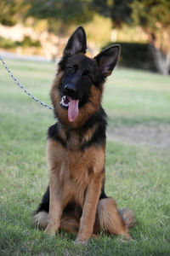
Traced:
<svg viewBox="0 0 170 256">
<path fill-rule="evenodd" d="M 83 244 L 92 236 L 102 179 L 102 173 L 94 174 L 94 177 L 91 179 L 88 185 L 84 205 L 82 208 L 80 228 L 77 234 L 77 239 L 75 241 L 76 243 Z"/>
</svg>

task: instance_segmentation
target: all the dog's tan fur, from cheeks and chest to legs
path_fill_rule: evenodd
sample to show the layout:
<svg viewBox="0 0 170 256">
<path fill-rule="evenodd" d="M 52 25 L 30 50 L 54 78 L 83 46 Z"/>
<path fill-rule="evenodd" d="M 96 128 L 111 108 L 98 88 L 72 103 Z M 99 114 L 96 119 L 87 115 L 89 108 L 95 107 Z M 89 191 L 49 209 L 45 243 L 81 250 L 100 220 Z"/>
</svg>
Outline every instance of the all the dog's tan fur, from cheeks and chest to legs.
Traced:
<svg viewBox="0 0 170 256">
<path fill-rule="evenodd" d="M 76 232 L 78 243 L 87 241 L 100 230 L 128 238 L 127 228 L 132 214 L 128 212 L 128 218 L 123 220 L 125 213 L 118 211 L 112 198 L 99 200 L 105 180 L 105 143 L 80 150 L 83 143 L 88 143 L 94 136 L 96 127 L 94 125 L 84 131 L 81 137 L 77 132 L 99 109 L 103 84 L 99 88 L 92 85 L 88 102 L 80 108 L 77 119 L 71 123 L 68 112 L 59 107 L 59 81 L 62 76 L 63 72 L 59 70 L 51 90 L 51 98 L 60 120 L 59 137 L 64 141 L 65 147 L 48 139 L 49 212 L 37 213 L 33 222 L 50 235 L 54 235 L 59 229 Z M 74 204 L 75 212 L 65 214 L 64 209 L 69 203 Z M 78 208 L 82 209 L 81 214 L 78 213 Z"/>
</svg>

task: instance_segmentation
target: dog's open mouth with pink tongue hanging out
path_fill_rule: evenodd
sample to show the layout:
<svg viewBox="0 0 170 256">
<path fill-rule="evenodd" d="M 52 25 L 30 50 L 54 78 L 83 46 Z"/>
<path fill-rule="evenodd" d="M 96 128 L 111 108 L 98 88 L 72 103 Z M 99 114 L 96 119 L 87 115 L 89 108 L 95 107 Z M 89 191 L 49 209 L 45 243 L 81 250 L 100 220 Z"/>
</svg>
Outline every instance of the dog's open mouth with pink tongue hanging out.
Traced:
<svg viewBox="0 0 170 256">
<path fill-rule="evenodd" d="M 70 96 L 61 97 L 60 107 L 68 109 L 68 119 L 70 122 L 74 122 L 77 119 L 79 113 L 78 103 L 79 100 L 73 100 Z"/>
</svg>

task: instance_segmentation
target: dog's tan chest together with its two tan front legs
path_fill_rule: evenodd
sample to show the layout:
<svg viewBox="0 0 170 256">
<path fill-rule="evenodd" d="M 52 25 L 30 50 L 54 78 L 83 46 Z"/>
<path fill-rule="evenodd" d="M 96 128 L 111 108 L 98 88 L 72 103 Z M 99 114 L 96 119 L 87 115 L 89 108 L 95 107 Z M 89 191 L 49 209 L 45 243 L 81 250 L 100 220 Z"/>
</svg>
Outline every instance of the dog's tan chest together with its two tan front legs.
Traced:
<svg viewBox="0 0 170 256">
<path fill-rule="evenodd" d="M 101 174 L 105 165 L 104 148 L 88 148 L 83 153 L 77 150 L 71 152 L 66 151 L 59 143 L 48 140 L 48 161 L 51 171 L 49 221 L 46 232 L 54 235 L 59 229 L 61 212 L 69 202 L 75 201 L 83 206 L 77 240 L 90 238 L 104 175 Z M 91 170 L 90 175 L 88 169 Z"/>
</svg>

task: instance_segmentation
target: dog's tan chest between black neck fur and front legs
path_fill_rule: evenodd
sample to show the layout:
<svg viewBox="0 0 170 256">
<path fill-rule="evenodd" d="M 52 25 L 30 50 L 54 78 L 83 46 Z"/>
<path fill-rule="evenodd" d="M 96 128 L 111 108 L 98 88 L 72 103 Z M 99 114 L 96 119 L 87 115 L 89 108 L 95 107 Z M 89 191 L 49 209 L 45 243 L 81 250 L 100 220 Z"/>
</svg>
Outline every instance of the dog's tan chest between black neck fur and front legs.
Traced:
<svg viewBox="0 0 170 256">
<path fill-rule="evenodd" d="M 68 201 L 77 201 L 79 205 L 83 205 L 90 180 L 105 166 L 105 148 L 71 150 L 61 143 L 48 140 L 48 162 L 50 172 L 62 190 L 64 205 Z"/>
</svg>

